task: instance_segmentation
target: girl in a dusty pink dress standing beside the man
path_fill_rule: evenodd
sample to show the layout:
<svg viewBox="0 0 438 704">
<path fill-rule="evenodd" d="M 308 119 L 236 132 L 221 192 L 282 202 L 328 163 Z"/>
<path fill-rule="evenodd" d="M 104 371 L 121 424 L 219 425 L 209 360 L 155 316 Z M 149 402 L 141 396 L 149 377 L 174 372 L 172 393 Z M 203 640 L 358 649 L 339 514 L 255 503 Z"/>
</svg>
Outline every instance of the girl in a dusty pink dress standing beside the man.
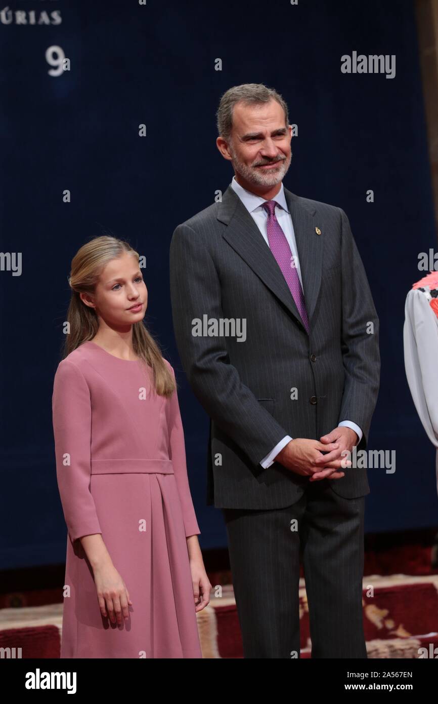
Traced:
<svg viewBox="0 0 438 704">
<path fill-rule="evenodd" d="M 143 325 L 139 254 L 96 237 L 72 260 L 53 382 L 65 522 L 61 658 L 202 658 L 210 601 L 172 366 Z"/>
</svg>

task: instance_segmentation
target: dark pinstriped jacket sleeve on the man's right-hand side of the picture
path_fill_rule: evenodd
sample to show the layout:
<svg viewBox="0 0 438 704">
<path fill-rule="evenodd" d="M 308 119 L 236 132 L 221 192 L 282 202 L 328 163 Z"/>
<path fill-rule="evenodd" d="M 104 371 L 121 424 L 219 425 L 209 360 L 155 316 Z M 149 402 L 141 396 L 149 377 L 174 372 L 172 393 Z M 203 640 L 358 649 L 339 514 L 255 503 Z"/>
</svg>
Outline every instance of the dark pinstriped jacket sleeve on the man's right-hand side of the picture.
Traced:
<svg viewBox="0 0 438 704">
<path fill-rule="evenodd" d="M 365 268 L 347 215 L 342 226 L 342 361 L 344 394 L 338 424 L 350 420 L 361 428 L 358 449 L 366 448 L 380 381 L 379 319 Z M 373 332 L 368 324 L 373 323 Z"/>
</svg>

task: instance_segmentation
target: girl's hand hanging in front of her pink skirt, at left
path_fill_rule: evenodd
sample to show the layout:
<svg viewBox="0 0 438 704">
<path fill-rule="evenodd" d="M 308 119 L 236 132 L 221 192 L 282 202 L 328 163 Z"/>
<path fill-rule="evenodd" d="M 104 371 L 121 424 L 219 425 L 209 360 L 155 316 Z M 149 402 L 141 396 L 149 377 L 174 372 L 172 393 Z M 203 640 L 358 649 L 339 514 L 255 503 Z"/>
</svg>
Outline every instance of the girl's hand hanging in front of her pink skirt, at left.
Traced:
<svg viewBox="0 0 438 704">
<path fill-rule="evenodd" d="M 129 598 L 129 591 L 120 574 L 112 563 L 106 563 L 102 567 L 94 568 L 94 583 L 97 589 L 99 608 L 103 617 L 109 615 L 110 621 L 122 624 L 124 619 L 129 618 L 129 606 L 132 606 Z"/>
</svg>

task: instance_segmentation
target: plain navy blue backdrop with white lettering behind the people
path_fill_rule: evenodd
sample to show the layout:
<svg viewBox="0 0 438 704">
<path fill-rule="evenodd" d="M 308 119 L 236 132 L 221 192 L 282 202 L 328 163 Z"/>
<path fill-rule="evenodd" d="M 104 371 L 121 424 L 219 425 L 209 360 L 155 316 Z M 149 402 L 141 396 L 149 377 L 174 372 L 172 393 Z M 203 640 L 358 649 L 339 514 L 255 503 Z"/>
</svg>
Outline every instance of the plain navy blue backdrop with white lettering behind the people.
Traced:
<svg viewBox="0 0 438 704">
<path fill-rule="evenodd" d="M 382 377 L 368 448 L 395 450 L 397 469 L 368 470 L 366 529 L 437 524 L 434 448 L 411 400 L 402 346 L 418 253 L 436 246 L 413 1 L 20 0 L 8 8 L 0 23 L 1 251 L 22 253 L 22 271 L 0 272 L 0 566 L 65 558 L 53 375 L 71 258 L 102 230 L 147 258 L 146 323 L 180 384 L 201 546 L 226 545 L 221 512 L 205 505 L 208 420 L 176 352 L 168 251 L 176 225 L 231 181 L 215 112 L 221 94 L 245 82 L 275 87 L 288 102 L 298 136 L 285 186 L 346 211 L 378 309 Z M 59 76 L 48 73 L 51 46 L 70 58 Z M 394 54 L 395 77 L 341 73 L 341 56 L 353 51 Z"/>
</svg>

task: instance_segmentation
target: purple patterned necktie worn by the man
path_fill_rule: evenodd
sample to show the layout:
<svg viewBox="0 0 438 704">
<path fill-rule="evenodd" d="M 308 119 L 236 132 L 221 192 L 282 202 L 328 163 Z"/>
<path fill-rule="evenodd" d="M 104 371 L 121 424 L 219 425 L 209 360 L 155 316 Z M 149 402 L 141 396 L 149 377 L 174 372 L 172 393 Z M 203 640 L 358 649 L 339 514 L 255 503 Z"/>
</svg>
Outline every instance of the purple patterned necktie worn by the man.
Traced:
<svg viewBox="0 0 438 704">
<path fill-rule="evenodd" d="M 309 320 L 307 318 L 306 304 L 304 303 L 304 294 L 301 282 L 299 281 L 297 268 L 293 265 L 292 252 L 290 251 L 288 240 L 274 212 L 278 203 L 276 201 L 266 201 L 262 203 L 262 206 L 266 210 L 266 213 L 268 213 L 266 232 L 268 234 L 269 248 L 283 272 L 283 276 L 290 288 L 290 293 L 297 305 L 302 323 L 307 330 L 307 334 L 309 334 Z"/>
</svg>

